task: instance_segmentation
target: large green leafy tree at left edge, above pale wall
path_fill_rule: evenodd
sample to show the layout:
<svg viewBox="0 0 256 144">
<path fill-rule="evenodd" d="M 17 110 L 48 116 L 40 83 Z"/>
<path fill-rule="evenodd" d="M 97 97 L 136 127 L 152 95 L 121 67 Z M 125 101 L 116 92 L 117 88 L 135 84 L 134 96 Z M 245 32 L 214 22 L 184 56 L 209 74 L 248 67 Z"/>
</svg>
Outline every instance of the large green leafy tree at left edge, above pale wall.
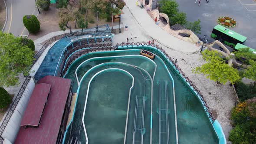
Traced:
<svg viewBox="0 0 256 144">
<path fill-rule="evenodd" d="M 29 74 L 34 52 L 12 34 L 0 32 L 0 39 L 0 85 L 17 85 L 19 73 Z"/>
</svg>

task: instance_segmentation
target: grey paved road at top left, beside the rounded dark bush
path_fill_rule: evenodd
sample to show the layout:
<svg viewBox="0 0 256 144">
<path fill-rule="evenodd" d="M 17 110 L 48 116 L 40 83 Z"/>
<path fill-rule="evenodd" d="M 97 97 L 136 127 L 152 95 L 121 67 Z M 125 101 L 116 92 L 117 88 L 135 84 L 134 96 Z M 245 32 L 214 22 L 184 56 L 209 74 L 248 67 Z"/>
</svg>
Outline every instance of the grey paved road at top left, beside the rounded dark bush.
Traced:
<svg viewBox="0 0 256 144">
<path fill-rule="evenodd" d="M 37 15 L 34 0 L 5 0 L 7 4 L 7 23 L 4 28 L 5 33 L 13 33 L 14 36 L 28 35 L 28 31 L 23 25 L 24 15 Z"/>
</svg>

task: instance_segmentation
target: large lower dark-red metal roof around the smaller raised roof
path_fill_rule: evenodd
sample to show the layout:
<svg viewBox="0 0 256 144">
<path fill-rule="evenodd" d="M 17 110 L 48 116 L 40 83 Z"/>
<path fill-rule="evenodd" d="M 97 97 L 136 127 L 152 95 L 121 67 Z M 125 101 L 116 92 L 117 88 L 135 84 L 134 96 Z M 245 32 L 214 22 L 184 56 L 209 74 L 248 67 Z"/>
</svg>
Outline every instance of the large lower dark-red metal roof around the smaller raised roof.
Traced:
<svg viewBox="0 0 256 144">
<path fill-rule="evenodd" d="M 71 80 L 48 75 L 38 83 L 51 85 L 43 118 L 39 128 L 20 127 L 15 144 L 56 144 Z"/>
</svg>

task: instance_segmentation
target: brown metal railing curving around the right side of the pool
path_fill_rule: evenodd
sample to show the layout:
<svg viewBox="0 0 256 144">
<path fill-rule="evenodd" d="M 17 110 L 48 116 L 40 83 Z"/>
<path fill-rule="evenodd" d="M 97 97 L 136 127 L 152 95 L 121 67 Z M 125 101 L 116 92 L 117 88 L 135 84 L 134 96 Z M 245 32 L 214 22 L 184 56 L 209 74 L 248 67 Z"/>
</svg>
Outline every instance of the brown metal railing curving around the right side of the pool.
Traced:
<svg viewBox="0 0 256 144">
<path fill-rule="evenodd" d="M 165 63 L 169 63 L 174 69 L 175 71 L 181 75 L 185 82 L 188 83 L 188 85 L 190 87 L 193 88 L 194 92 L 200 97 L 200 100 L 202 101 L 203 103 L 203 107 L 205 107 L 205 111 L 207 112 L 209 118 L 212 120 L 212 123 L 214 123 L 215 121 L 215 118 L 212 114 L 212 112 L 210 111 L 210 108 L 208 107 L 207 105 L 207 102 L 204 100 L 204 97 L 202 95 L 202 93 L 198 90 L 198 88 L 193 84 L 192 81 L 190 81 L 190 79 L 187 77 L 187 75 L 185 75 L 185 73 L 181 70 L 181 68 L 178 67 L 177 63 L 174 62 L 174 60 L 171 59 L 170 56 L 168 56 L 167 52 L 165 52 L 165 50 L 163 48 L 161 48 L 160 46 L 156 45 L 156 44 L 149 44 L 148 42 L 137 42 L 137 43 L 117 43 L 116 46 L 138 46 L 136 47 L 137 49 L 140 49 L 139 46 L 152 46 L 152 47 L 156 47 L 157 50 L 160 50 L 160 52 L 164 55 L 164 62 Z M 131 48 L 128 48 L 128 49 L 131 49 Z"/>
</svg>

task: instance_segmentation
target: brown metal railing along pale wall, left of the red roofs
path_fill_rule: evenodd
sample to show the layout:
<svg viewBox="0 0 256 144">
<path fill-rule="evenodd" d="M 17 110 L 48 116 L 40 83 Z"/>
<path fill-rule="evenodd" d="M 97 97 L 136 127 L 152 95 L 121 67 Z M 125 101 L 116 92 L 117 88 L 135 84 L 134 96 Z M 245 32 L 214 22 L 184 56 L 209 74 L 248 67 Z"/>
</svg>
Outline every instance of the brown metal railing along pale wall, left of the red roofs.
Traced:
<svg viewBox="0 0 256 144">
<path fill-rule="evenodd" d="M 10 109 L 7 112 L 7 115 L 4 118 L 3 123 L 0 126 L 0 144 L 3 143 L 3 137 L 2 137 L 3 131 L 6 128 L 8 122 L 10 121 L 10 118 L 13 115 L 13 112 L 14 112 L 16 106 L 18 105 L 18 103 L 20 101 L 20 98 L 21 98 L 21 96 L 23 95 L 23 92 L 26 89 L 26 86 L 30 82 L 30 79 L 31 79 L 30 75 L 25 78 L 25 81 L 23 82 L 23 85 L 21 86 L 20 91 L 18 92 L 16 98 L 14 99 L 13 103 L 11 104 Z"/>
</svg>

